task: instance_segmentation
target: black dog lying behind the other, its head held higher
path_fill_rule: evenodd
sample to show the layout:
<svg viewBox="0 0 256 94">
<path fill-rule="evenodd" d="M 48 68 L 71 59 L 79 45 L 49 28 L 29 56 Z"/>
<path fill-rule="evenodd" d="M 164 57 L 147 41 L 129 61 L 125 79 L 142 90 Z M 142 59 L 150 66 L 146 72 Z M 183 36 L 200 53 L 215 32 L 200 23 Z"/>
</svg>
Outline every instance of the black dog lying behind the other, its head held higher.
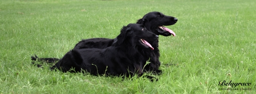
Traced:
<svg viewBox="0 0 256 94">
<path fill-rule="evenodd" d="M 160 12 L 150 12 L 146 15 L 144 15 L 141 19 L 137 21 L 137 24 L 142 24 L 145 26 L 147 30 L 150 32 L 155 33 L 156 35 L 162 35 L 162 36 L 175 36 L 175 33 L 164 27 L 168 25 L 173 25 L 178 21 L 177 18 L 166 16 Z M 164 25 L 164 26 L 163 26 Z M 107 38 L 92 38 L 92 39 L 85 39 L 80 41 L 78 44 L 75 45 L 74 49 L 83 49 L 83 48 L 107 48 L 114 44 L 118 39 L 107 39 Z M 144 49 L 140 48 L 140 52 L 144 56 L 143 63 L 146 64 L 146 62 L 149 60 L 148 65 L 145 66 L 144 71 L 156 71 L 159 69 L 160 61 L 159 61 L 159 49 L 158 49 L 158 40 L 152 44 L 154 50 L 150 49 Z M 32 60 L 38 59 L 39 61 L 47 61 L 49 63 L 58 61 L 58 58 L 38 58 L 37 56 L 32 56 Z M 39 65 L 40 66 L 40 65 Z M 159 70 L 160 71 L 160 70 Z"/>
</svg>

